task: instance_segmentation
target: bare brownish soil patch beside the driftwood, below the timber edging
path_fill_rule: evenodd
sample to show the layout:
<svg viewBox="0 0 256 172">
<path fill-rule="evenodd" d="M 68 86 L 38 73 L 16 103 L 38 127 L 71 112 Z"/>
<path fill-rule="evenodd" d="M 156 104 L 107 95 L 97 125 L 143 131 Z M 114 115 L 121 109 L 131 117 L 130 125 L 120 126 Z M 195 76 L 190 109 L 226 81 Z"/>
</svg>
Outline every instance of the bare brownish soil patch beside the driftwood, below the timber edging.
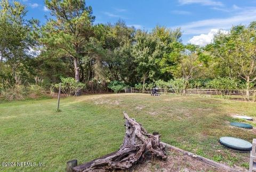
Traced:
<svg viewBox="0 0 256 172">
<path fill-rule="evenodd" d="M 146 171 L 157 171 L 157 172 L 167 172 L 167 171 L 218 171 L 224 172 L 227 171 L 225 169 L 212 167 L 207 165 L 206 163 L 196 160 L 189 155 L 184 155 L 182 153 L 178 153 L 173 150 L 168 151 L 168 158 L 166 161 L 161 160 L 151 160 L 149 162 L 145 162 L 141 165 L 136 165 L 132 169 L 127 171 L 138 171 L 138 172 L 146 172 Z M 239 169 L 241 171 L 246 171 L 245 169 Z"/>
</svg>

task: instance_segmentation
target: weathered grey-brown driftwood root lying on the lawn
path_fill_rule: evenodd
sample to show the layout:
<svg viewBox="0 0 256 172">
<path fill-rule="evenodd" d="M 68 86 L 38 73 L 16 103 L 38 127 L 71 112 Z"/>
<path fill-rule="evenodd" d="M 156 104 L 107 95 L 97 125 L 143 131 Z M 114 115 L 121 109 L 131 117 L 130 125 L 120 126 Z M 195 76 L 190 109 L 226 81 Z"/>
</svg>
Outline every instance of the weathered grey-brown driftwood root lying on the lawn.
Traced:
<svg viewBox="0 0 256 172">
<path fill-rule="evenodd" d="M 108 171 L 127 169 L 146 158 L 166 159 L 165 146 L 159 141 L 159 135 L 152 135 L 134 119 L 124 113 L 126 133 L 117 152 L 111 153 L 87 164 L 77 166 L 75 171 Z"/>
</svg>

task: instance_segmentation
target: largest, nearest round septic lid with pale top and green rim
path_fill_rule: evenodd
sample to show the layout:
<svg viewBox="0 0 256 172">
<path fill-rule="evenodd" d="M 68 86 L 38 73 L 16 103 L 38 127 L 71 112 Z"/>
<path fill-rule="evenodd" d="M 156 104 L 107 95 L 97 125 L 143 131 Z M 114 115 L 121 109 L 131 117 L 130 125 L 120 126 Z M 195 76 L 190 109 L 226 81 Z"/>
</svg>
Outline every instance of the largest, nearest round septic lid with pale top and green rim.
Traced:
<svg viewBox="0 0 256 172">
<path fill-rule="evenodd" d="M 239 151 L 252 150 L 252 144 L 250 142 L 235 137 L 220 137 L 220 144 Z"/>
</svg>

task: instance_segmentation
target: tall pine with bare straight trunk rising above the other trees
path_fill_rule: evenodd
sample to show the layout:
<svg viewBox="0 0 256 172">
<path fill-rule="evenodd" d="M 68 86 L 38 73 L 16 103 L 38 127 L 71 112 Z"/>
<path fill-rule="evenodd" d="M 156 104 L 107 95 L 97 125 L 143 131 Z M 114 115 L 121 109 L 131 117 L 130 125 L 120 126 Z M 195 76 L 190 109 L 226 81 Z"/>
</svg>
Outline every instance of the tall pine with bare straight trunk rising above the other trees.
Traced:
<svg viewBox="0 0 256 172">
<path fill-rule="evenodd" d="M 53 18 L 42 27 L 41 43 L 50 54 L 71 58 L 75 79 L 80 81 L 79 60 L 86 54 L 86 45 L 93 35 L 91 6 L 84 0 L 46 0 Z"/>
</svg>

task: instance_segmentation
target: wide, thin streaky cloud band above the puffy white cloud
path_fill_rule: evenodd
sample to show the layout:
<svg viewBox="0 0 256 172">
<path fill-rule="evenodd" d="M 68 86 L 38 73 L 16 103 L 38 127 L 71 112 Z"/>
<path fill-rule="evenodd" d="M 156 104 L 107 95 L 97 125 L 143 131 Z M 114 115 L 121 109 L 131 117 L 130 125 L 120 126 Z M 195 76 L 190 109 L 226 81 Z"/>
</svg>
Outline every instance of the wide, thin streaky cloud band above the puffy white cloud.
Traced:
<svg viewBox="0 0 256 172">
<path fill-rule="evenodd" d="M 228 30 L 232 26 L 239 24 L 249 24 L 254 20 L 256 20 L 256 7 L 247 7 L 239 10 L 239 12 L 235 13 L 232 17 L 199 20 L 174 27 L 181 27 L 181 29 L 184 31 L 183 34 L 185 35 L 198 35 L 206 34 L 212 28 Z"/>
</svg>

